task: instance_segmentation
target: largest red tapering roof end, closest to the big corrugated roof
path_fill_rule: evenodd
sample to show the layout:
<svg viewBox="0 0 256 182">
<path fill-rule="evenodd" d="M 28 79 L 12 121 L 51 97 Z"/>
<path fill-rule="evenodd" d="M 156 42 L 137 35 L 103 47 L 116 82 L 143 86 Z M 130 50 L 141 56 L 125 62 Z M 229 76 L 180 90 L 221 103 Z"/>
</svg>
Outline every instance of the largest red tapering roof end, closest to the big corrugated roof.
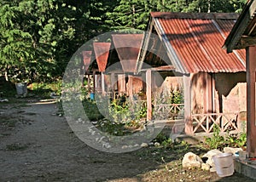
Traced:
<svg viewBox="0 0 256 182">
<path fill-rule="evenodd" d="M 135 72 L 143 34 L 115 34 L 112 37 L 123 71 Z"/>
</svg>

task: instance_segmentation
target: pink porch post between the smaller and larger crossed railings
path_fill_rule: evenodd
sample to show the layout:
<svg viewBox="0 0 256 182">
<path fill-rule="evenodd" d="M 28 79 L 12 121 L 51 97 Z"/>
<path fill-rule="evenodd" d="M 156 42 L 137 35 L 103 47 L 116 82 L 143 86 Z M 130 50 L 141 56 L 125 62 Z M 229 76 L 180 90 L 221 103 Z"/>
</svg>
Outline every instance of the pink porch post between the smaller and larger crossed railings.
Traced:
<svg viewBox="0 0 256 182">
<path fill-rule="evenodd" d="M 191 120 L 191 79 L 190 75 L 183 76 L 184 88 L 184 120 L 185 120 L 185 134 L 193 134 L 193 123 Z"/>
</svg>

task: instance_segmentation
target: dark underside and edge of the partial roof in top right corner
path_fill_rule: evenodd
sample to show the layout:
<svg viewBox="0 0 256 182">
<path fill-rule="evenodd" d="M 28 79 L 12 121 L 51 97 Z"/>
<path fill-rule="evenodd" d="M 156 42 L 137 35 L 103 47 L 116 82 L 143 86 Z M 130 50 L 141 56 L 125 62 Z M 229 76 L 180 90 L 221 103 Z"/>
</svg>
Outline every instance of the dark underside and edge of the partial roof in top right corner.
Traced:
<svg viewBox="0 0 256 182">
<path fill-rule="evenodd" d="M 224 48 L 231 53 L 233 49 L 246 48 L 248 45 L 256 45 L 253 40 L 256 36 L 256 1 L 248 0 L 238 17 L 235 26 L 227 37 Z"/>
</svg>

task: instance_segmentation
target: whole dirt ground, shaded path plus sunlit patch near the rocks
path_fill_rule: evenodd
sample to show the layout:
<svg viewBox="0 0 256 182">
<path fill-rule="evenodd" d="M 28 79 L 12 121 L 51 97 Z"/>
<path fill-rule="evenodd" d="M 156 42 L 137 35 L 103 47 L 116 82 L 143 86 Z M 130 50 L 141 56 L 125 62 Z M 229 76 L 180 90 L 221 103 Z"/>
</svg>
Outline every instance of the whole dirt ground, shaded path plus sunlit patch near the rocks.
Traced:
<svg viewBox="0 0 256 182">
<path fill-rule="evenodd" d="M 36 101 L 0 103 L 0 181 L 252 181 L 238 173 L 220 179 L 184 170 L 175 155 L 162 156 L 152 147 L 96 151 L 73 134 L 65 117 L 56 116 L 55 103 Z"/>
</svg>

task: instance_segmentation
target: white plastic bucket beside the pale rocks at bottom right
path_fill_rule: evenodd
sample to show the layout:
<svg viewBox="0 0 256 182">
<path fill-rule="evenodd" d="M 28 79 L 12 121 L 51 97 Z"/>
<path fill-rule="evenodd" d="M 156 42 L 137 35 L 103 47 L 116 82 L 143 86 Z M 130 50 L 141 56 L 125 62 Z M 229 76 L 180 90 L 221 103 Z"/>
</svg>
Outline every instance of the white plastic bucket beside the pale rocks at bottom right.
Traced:
<svg viewBox="0 0 256 182">
<path fill-rule="evenodd" d="M 234 173 L 234 162 L 231 153 L 220 153 L 212 156 L 219 177 L 230 176 Z"/>
</svg>

